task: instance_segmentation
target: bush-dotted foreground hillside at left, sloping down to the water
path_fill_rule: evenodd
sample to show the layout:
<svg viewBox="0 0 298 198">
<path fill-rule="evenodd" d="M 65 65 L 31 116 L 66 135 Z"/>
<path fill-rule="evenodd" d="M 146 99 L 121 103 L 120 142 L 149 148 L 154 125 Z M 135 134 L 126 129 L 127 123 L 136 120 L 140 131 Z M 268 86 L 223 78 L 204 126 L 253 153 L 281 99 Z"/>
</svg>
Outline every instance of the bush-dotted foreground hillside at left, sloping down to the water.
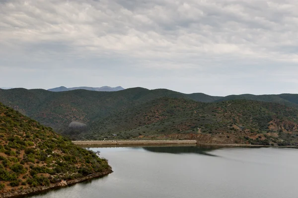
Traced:
<svg viewBox="0 0 298 198">
<path fill-rule="evenodd" d="M 53 129 L 0 103 L 0 197 L 63 186 L 87 175 L 110 172 L 107 161 L 94 152 L 76 147 Z"/>
</svg>

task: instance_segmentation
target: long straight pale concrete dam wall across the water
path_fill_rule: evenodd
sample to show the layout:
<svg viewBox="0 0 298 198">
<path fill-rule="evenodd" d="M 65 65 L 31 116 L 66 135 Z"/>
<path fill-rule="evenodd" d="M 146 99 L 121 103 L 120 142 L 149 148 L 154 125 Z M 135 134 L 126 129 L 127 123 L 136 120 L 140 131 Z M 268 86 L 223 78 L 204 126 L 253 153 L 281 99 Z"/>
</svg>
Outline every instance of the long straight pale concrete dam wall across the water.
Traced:
<svg viewBox="0 0 298 198">
<path fill-rule="evenodd" d="M 196 145 L 196 140 L 115 140 L 115 141 L 72 141 L 78 146 L 161 146 Z"/>
</svg>

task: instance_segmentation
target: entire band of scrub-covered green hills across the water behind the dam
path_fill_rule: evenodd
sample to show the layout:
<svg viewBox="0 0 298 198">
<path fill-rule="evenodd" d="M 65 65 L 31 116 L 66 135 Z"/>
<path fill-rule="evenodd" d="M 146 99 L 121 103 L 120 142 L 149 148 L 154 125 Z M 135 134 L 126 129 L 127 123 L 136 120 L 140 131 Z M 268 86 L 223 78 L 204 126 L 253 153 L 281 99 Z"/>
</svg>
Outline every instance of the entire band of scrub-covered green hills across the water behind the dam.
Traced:
<svg viewBox="0 0 298 198">
<path fill-rule="evenodd" d="M 103 140 L 113 134 L 120 139 L 224 134 L 229 144 L 298 144 L 298 94 L 217 97 L 144 88 L 118 92 L 10 89 L 0 90 L 0 102 L 77 140 Z M 71 122 L 86 127 L 70 130 Z"/>
</svg>

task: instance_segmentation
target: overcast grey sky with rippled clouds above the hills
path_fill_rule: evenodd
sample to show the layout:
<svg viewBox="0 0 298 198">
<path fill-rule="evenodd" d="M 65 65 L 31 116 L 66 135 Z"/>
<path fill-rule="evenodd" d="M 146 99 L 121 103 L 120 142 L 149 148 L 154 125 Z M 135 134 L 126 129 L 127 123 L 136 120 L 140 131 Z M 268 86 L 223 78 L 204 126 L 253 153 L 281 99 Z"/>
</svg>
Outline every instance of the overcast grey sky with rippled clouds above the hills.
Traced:
<svg viewBox="0 0 298 198">
<path fill-rule="evenodd" d="M 0 0 L 0 79 L 298 93 L 298 1 Z"/>
</svg>

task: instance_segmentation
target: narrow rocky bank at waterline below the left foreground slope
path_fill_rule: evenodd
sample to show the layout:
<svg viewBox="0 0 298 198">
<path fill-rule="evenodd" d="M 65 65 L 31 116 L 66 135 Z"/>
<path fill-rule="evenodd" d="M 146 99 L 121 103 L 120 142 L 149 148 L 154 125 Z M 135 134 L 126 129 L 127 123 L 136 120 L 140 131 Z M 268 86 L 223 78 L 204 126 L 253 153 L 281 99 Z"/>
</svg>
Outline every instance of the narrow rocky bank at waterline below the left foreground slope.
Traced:
<svg viewBox="0 0 298 198">
<path fill-rule="evenodd" d="M 46 191 L 49 189 L 55 189 L 55 188 L 61 188 L 61 187 L 66 187 L 69 185 L 73 185 L 85 180 L 93 179 L 93 178 L 98 178 L 98 177 L 103 177 L 105 175 L 108 175 L 112 173 L 112 169 L 106 170 L 101 173 L 94 173 L 85 177 L 77 178 L 74 180 L 69 180 L 69 181 L 64 181 L 62 180 L 59 183 L 56 184 L 50 184 L 50 186 L 39 186 L 39 187 L 30 187 L 26 189 L 17 189 L 17 190 L 11 190 L 11 191 L 2 191 L 0 193 L 0 198 L 20 198 L 23 195 L 28 195 L 28 194 L 34 194 L 42 191 Z"/>
</svg>

